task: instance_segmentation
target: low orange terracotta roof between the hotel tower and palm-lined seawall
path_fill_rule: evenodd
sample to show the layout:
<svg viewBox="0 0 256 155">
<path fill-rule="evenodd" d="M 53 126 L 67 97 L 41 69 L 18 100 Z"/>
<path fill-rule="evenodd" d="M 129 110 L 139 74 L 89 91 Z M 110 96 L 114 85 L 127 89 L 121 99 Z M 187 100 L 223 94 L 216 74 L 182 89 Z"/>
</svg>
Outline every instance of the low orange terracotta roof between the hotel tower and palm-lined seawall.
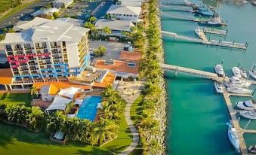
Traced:
<svg viewBox="0 0 256 155">
<path fill-rule="evenodd" d="M 118 61 L 113 60 L 112 64 L 106 64 L 105 60 L 97 60 L 95 63 L 95 68 L 100 69 L 109 69 L 112 71 L 119 71 L 119 72 L 125 72 L 125 73 L 132 73 L 132 74 L 138 74 L 138 66 L 130 67 L 128 66 L 128 63 L 125 61 Z"/>
</svg>

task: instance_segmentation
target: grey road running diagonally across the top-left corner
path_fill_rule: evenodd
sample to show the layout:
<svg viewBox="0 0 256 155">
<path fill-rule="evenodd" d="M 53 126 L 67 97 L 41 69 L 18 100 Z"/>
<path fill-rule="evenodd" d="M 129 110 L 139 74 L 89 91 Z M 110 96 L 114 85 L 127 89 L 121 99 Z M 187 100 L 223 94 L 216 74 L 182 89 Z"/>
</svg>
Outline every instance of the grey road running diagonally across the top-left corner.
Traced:
<svg viewBox="0 0 256 155">
<path fill-rule="evenodd" d="M 29 5 L 29 7 L 24 8 L 22 11 L 19 11 L 13 15 L 11 15 L 10 17 L 6 18 L 5 20 L 3 20 L 2 22 L 0 22 L 0 29 L 2 28 L 10 28 L 14 25 L 17 24 L 18 20 L 31 20 L 32 16 L 31 14 L 34 13 L 35 11 L 38 11 L 40 8 L 42 8 L 43 6 L 47 5 L 48 2 L 35 2 L 32 5 Z"/>
</svg>

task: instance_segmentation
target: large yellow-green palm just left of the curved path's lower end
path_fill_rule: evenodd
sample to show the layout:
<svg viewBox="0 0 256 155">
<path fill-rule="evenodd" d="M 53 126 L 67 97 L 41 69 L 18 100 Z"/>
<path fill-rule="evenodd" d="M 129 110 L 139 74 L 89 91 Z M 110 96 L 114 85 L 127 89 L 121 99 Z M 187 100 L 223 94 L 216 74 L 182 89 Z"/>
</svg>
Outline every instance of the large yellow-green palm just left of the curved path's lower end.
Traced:
<svg viewBox="0 0 256 155">
<path fill-rule="evenodd" d="M 113 120 L 100 119 L 94 123 L 91 133 L 91 144 L 103 144 L 112 138 L 115 138 L 118 133 L 119 126 Z"/>
</svg>

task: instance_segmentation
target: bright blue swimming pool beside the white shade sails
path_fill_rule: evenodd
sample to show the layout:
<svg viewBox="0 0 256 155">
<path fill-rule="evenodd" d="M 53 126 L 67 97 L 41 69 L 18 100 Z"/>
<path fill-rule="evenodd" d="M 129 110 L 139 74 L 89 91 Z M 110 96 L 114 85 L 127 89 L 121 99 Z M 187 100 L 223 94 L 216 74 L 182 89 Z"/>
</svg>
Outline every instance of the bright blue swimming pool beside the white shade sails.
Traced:
<svg viewBox="0 0 256 155">
<path fill-rule="evenodd" d="M 100 96 L 88 96 L 82 101 L 76 117 L 94 121 L 97 114 L 97 104 L 100 103 Z"/>
</svg>

